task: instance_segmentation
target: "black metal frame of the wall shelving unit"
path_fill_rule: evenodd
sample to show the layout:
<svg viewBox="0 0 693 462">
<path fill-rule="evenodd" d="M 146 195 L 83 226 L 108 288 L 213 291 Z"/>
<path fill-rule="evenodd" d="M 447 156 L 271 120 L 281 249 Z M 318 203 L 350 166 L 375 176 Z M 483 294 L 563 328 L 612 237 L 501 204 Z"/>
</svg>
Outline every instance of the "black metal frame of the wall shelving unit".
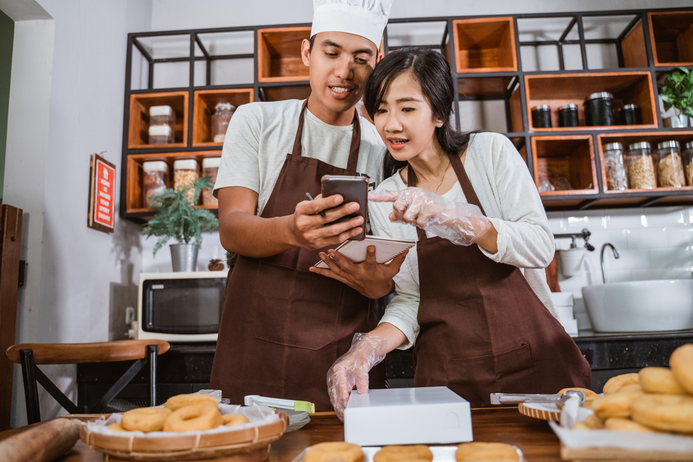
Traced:
<svg viewBox="0 0 693 462">
<path fill-rule="evenodd" d="M 599 193 L 594 195 L 572 195 L 572 196 L 560 196 L 560 197 L 542 197 L 547 210 L 574 210 L 574 209 L 586 209 L 593 206 L 594 202 L 599 199 L 612 198 L 614 195 L 607 195 L 604 193 L 605 189 L 602 184 L 602 173 L 600 168 L 600 162 L 598 160 L 599 147 L 597 145 L 597 135 L 604 133 L 613 133 L 614 130 L 591 130 L 590 127 L 584 127 L 584 130 L 565 130 L 565 131 L 552 131 L 552 132 L 529 132 L 529 121 L 527 114 L 527 96 L 525 90 L 525 75 L 548 75 L 554 73 L 570 74 L 570 73 L 608 73 L 608 72 L 622 72 L 622 71 L 648 71 L 651 73 L 651 78 L 653 82 L 653 91 L 657 94 L 657 78 L 658 75 L 662 73 L 671 71 L 675 69 L 674 66 L 654 66 L 653 51 L 651 46 L 651 39 L 649 37 L 649 27 L 647 13 L 649 12 L 667 12 L 667 11 L 693 11 L 693 8 L 648 8 L 648 9 L 637 9 L 637 10 L 605 10 L 605 11 L 590 11 L 590 12 L 547 12 L 547 13 L 532 13 L 532 14 L 518 14 L 518 15 L 474 15 L 474 16 L 464 16 L 464 17 L 416 17 L 416 18 L 394 18 L 390 19 L 388 24 L 403 24 L 403 23 L 429 23 L 429 22 L 443 22 L 446 24 L 444 28 L 443 37 L 439 44 L 422 44 L 417 46 L 425 46 L 426 48 L 439 48 L 444 51 L 445 47 L 450 45 L 450 32 L 453 30 L 453 21 L 456 19 L 477 19 L 477 18 L 493 18 L 493 17 L 513 17 L 514 21 L 514 31 L 515 31 L 515 43 L 516 43 L 516 58 L 518 63 L 517 71 L 508 72 L 470 72 L 470 73 L 457 73 L 456 66 L 456 55 L 454 51 L 451 50 L 449 53 L 450 68 L 453 75 L 453 85 L 455 87 L 455 125 L 457 130 L 460 129 L 460 121 L 457 116 L 459 111 L 459 102 L 464 100 L 505 100 L 506 106 L 506 121 L 508 130 L 511 130 L 510 121 L 510 110 L 509 110 L 509 97 L 517 89 L 520 92 L 520 105 L 522 110 L 522 122 L 523 122 L 523 132 L 507 132 L 505 136 L 511 139 L 518 139 L 516 142 L 516 148 L 520 149 L 525 147 L 527 154 L 527 168 L 529 172 L 533 175 L 534 166 L 532 161 L 532 136 L 566 136 L 574 134 L 590 134 L 593 136 L 593 146 L 595 149 L 595 167 L 597 169 L 597 190 Z M 633 19 L 629 24 L 621 31 L 621 33 L 616 38 L 604 38 L 604 39 L 586 39 L 584 30 L 584 18 L 585 17 L 608 17 L 608 16 L 626 16 L 633 15 Z M 558 40 L 539 40 L 539 41 L 520 41 L 520 30 L 518 28 L 518 19 L 550 19 L 550 18 L 570 18 L 568 26 L 559 37 Z M 644 39 L 644 47 L 647 55 L 647 67 L 639 68 L 624 68 L 623 67 L 623 55 L 621 50 L 622 39 L 626 34 L 636 25 L 638 21 L 642 21 L 642 32 Z M 165 30 L 165 31 L 150 31 L 143 33 L 130 33 L 128 34 L 127 42 L 127 53 L 125 62 L 125 98 L 124 98 L 124 116 L 123 116 L 123 155 L 122 155 L 122 166 L 127 165 L 129 154 L 143 154 L 143 153 L 157 153 L 157 152 L 198 152 L 203 150 L 213 150 L 213 147 L 193 147 L 192 140 L 192 129 L 193 129 L 193 96 L 194 92 L 198 90 L 207 89 L 240 89 L 247 88 L 253 89 L 255 100 L 263 100 L 263 87 L 292 87 L 292 86 L 306 86 L 309 85 L 308 80 L 298 80 L 292 82 L 258 82 L 258 29 L 265 28 L 283 28 L 283 27 L 300 27 L 300 26 L 310 26 L 310 23 L 304 24 L 267 24 L 261 26 L 238 26 L 238 27 L 227 27 L 227 28 L 206 28 L 206 29 L 186 29 L 186 30 Z M 573 28 L 577 26 L 579 39 L 566 39 L 568 35 L 572 32 Z M 200 34 L 213 34 L 213 33 L 230 33 L 230 32 L 252 32 L 253 33 L 253 49 L 254 53 L 239 53 L 239 54 L 229 54 L 229 55 L 213 55 L 209 53 L 207 48 L 202 43 L 200 39 Z M 144 37 L 163 37 L 171 35 L 189 35 L 190 37 L 190 51 L 189 55 L 186 57 L 169 57 L 169 58 L 154 58 L 151 53 L 148 52 L 145 46 L 140 42 L 139 39 Z M 389 46 L 387 37 L 387 28 L 383 33 L 384 49 L 385 53 L 389 53 L 391 50 L 396 50 L 402 48 L 402 46 Z M 577 70 L 565 70 L 565 62 L 563 59 L 563 46 L 564 45 L 580 45 L 581 60 L 583 69 Z M 615 44 L 617 51 L 617 60 L 619 67 L 616 69 L 589 69 L 587 60 L 587 49 L 588 44 Z M 202 51 L 202 56 L 195 56 L 195 46 L 200 48 Z M 450 45 L 451 46 L 451 45 Z M 522 46 L 556 46 L 559 53 L 559 70 L 556 71 L 523 71 L 522 57 L 520 53 L 520 48 Z M 142 54 L 142 56 L 148 62 L 148 88 L 147 89 L 137 89 L 132 90 L 132 48 L 137 48 L 137 50 Z M 254 81 L 248 82 L 247 84 L 231 84 L 231 85 L 211 85 L 211 62 L 214 60 L 234 60 L 234 59 L 248 59 L 253 58 L 254 60 Z M 205 85 L 195 86 L 195 62 L 204 61 L 206 63 L 206 78 Z M 155 89 L 153 88 L 154 82 L 154 68 L 155 64 L 167 63 L 167 62 L 189 62 L 189 81 L 188 87 L 176 87 L 176 88 L 164 88 Z M 693 69 L 693 66 L 685 66 L 688 69 Z M 505 94 L 501 96 L 460 96 L 458 91 L 458 78 L 489 78 L 489 77 L 510 77 L 511 82 L 507 88 Z M 147 149 L 128 149 L 128 118 L 130 114 L 130 94 L 150 94 L 150 93 L 164 93 L 168 91 L 188 91 L 188 145 L 182 148 L 166 148 L 162 146 L 161 148 L 147 148 Z M 661 120 L 660 107 L 656 101 L 656 116 L 657 121 Z M 663 129 L 651 128 L 651 129 L 638 129 L 637 127 L 633 129 L 618 129 L 619 133 L 627 134 L 629 132 L 662 132 L 677 129 Z M 679 129 L 680 130 L 680 129 Z M 220 147 L 218 149 L 221 149 Z M 127 175 L 123 172 L 121 175 L 121 205 L 120 214 L 121 217 L 139 219 L 141 217 L 150 216 L 148 212 L 138 212 L 138 213 L 126 213 L 125 204 L 126 198 L 125 193 L 127 190 Z M 658 192 L 653 190 L 651 192 L 638 192 L 638 193 L 623 193 L 619 197 L 644 197 L 643 201 L 637 205 L 627 205 L 626 207 L 633 206 L 652 206 L 656 205 L 658 200 L 664 197 L 671 197 L 675 195 L 693 195 L 691 190 L 682 191 L 665 191 Z M 552 202 L 570 199 L 583 199 L 577 207 L 561 207 L 552 206 Z M 679 203 L 677 203 L 679 204 Z M 681 205 L 693 205 L 693 199 L 690 201 L 680 202 Z M 618 207 L 617 205 L 609 205 L 609 208 Z"/>
</svg>

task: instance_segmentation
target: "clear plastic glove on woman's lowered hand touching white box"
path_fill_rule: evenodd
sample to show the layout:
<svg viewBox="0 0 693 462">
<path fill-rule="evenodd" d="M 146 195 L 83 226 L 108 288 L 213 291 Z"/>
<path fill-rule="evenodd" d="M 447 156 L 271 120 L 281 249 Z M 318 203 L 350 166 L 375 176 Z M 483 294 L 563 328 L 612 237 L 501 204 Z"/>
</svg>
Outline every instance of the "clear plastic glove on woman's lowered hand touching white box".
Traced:
<svg viewBox="0 0 693 462">
<path fill-rule="evenodd" d="M 368 393 L 368 372 L 385 359 L 387 339 L 370 333 L 353 335 L 351 348 L 327 371 L 327 392 L 337 417 L 344 422 L 344 408 L 354 385 Z"/>
</svg>

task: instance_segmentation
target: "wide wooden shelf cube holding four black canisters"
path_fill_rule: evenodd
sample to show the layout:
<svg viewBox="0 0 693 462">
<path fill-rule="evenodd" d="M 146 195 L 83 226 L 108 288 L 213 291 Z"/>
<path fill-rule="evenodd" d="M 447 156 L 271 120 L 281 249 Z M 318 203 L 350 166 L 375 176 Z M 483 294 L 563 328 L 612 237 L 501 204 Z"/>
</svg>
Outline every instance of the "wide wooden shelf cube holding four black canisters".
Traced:
<svg viewBox="0 0 693 462">
<path fill-rule="evenodd" d="M 651 73 L 647 71 L 525 75 L 525 91 L 530 132 L 657 127 L 652 78 Z M 642 124 L 586 126 L 585 98 L 598 91 L 608 91 L 613 94 L 615 111 L 625 104 L 638 105 L 642 111 Z M 580 126 L 559 127 L 559 109 L 570 103 L 574 103 L 578 107 Z M 533 126 L 530 114 L 532 114 L 532 107 L 537 105 L 549 105 L 551 107 L 551 128 Z"/>
</svg>

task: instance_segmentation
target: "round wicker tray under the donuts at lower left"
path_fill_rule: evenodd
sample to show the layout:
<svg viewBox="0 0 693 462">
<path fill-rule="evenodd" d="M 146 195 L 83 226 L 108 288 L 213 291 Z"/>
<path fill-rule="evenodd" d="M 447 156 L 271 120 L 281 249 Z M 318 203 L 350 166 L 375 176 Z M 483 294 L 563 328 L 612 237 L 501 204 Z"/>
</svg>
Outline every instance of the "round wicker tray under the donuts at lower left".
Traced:
<svg viewBox="0 0 693 462">
<path fill-rule="evenodd" d="M 82 441 L 92 449 L 117 461 L 202 461 L 226 457 L 228 461 L 261 462 L 267 459 L 270 443 L 277 441 L 288 427 L 289 418 L 279 412 L 279 420 L 236 431 L 182 434 L 176 438 L 132 435 L 114 436 L 80 428 Z"/>
</svg>

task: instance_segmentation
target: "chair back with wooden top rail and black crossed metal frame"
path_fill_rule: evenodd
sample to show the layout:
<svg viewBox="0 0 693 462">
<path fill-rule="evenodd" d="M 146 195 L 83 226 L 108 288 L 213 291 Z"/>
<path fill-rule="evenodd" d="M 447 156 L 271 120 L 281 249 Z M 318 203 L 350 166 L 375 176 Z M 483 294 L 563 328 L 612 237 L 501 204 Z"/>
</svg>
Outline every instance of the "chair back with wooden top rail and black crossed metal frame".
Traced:
<svg viewBox="0 0 693 462">
<path fill-rule="evenodd" d="M 5 355 L 11 362 L 21 364 L 27 420 L 28 423 L 37 423 L 41 421 L 41 413 L 36 382 L 40 383 L 70 414 L 89 413 L 107 406 L 146 363 L 149 363 L 149 402 L 150 406 L 155 406 L 157 356 L 166 353 L 169 348 L 168 341 L 163 340 L 121 340 L 89 344 L 17 344 L 10 346 Z M 37 367 L 37 364 L 82 364 L 132 360 L 134 364 L 91 407 L 75 405 Z"/>
</svg>

